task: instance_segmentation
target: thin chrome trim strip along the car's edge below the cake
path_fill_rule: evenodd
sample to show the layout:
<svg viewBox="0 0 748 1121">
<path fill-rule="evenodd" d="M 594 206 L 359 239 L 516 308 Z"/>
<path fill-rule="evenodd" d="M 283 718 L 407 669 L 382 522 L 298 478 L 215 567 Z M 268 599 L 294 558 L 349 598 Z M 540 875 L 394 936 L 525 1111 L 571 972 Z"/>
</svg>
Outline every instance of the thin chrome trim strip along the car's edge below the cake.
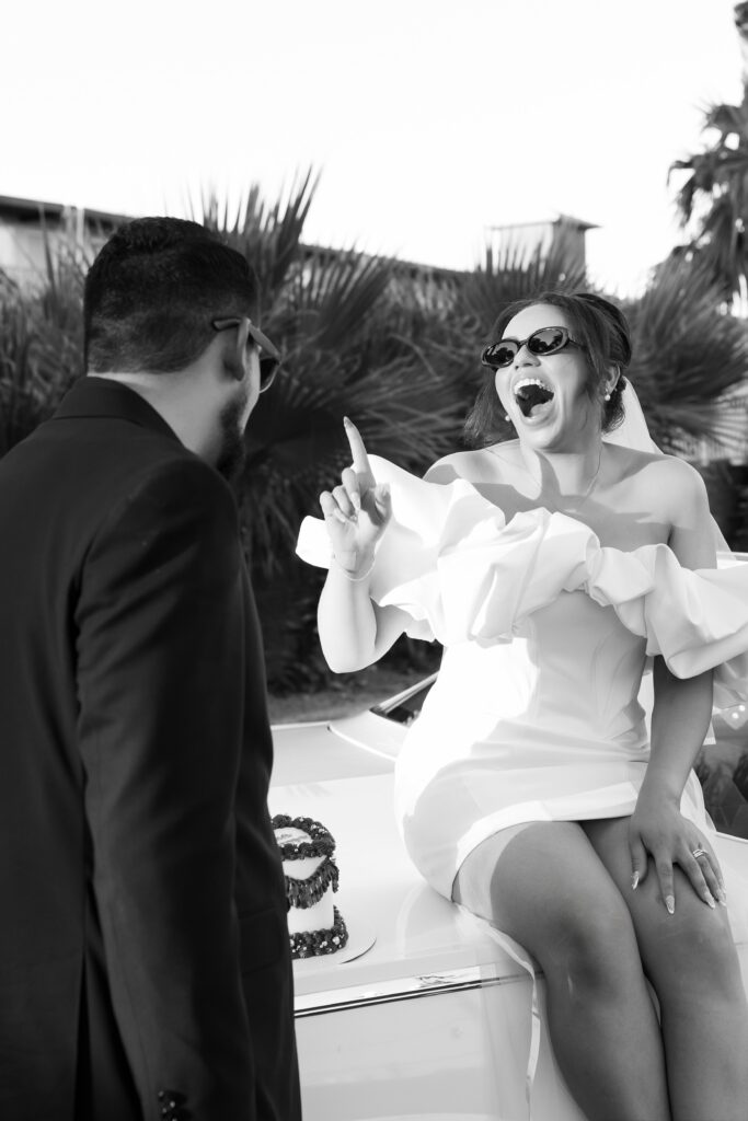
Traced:
<svg viewBox="0 0 748 1121">
<path fill-rule="evenodd" d="M 307 995 L 296 995 L 295 1017 L 297 1020 L 307 1016 L 324 1016 L 329 1012 L 347 1012 L 354 1008 L 369 1008 L 373 1004 L 394 1004 L 401 1000 L 418 1000 L 421 997 L 434 997 L 442 992 L 470 992 L 474 989 L 487 989 L 499 984 L 514 984 L 526 981 L 523 971 L 507 976 L 491 975 L 490 966 L 471 965 L 464 970 L 449 973 L 426 973 L 422 976 L 395 978 L 390 981 L 378 981 L 373 985 L 359 984 L 343 989 L 313 992 Z"/>
</svg>

